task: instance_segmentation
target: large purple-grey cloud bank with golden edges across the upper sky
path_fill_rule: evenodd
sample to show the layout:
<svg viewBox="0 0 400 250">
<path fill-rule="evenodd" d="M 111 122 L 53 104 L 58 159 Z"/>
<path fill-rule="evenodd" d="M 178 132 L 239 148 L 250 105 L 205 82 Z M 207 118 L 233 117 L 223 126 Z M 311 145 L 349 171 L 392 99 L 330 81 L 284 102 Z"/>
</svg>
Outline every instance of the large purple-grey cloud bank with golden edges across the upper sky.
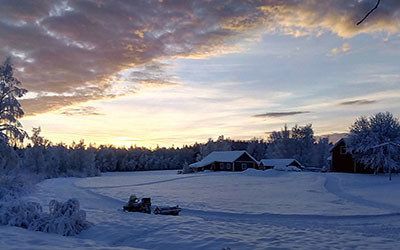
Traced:
<svg viewBox="0 0 400 250">
<path fill-rule="evenodd" d="M 116 94 L 113 86 L 129 69 L 142 68 L 147 75 L 132 70 L 128 79 L 134 82 L 127 86 L 128 92 L 135 91 L 135 84 L 174 84 L 173 76 L 147 65 L 240 51 L 235 41 L 248 38 L 248 31 L 255 29 L 293 36 L 332 32 L 341 37 L 400 30 L 397 0 L 383 1 L 360 26 L 354 24 L 374 1 L 0 0 L 0 4 L 0 58 L 14 55 L 21 69 L 17 77 L 28 90 L 60 94 L 38 97 L 36 103 L 44 105 L 25 106 L 28 114 L 126 94 Z"/>
</svg>

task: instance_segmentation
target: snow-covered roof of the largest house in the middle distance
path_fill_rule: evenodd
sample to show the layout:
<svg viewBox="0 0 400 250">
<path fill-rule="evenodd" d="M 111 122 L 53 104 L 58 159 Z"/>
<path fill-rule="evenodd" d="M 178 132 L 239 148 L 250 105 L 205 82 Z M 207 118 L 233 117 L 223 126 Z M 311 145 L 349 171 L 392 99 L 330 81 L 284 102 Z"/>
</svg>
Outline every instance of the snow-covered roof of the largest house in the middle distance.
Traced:
<svg viewBox="0 0 400 250">
<path fill-rule="evenodd" d="M 213 162 L 230 162 L 233 163 L 243 154 L 247 154 L 252 160 L 257 162 L 249 153 L 244 150 L 240 151 L 214 151 L 203 158 L 203 160 L 190 164 L 191 168 L 200 168 L 207 166 Z"/>
</svg>

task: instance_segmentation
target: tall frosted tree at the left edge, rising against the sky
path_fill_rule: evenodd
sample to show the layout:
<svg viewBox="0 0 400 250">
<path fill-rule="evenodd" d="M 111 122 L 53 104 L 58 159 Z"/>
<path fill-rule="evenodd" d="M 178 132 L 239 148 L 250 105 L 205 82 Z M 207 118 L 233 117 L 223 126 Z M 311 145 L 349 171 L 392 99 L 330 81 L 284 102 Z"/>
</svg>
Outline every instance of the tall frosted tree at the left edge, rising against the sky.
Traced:
<svg viewBox="0 0 400 250">
<path fill-rule="evenodd" d="M 12 143 L 21 142 L 26 133 L 18 121 L 24 115 L 17 98 L 26 94 L 21 82 L 14 77 L 11 59 L 7 58 L 0 66 L 0 137 Z"/>
</svg>

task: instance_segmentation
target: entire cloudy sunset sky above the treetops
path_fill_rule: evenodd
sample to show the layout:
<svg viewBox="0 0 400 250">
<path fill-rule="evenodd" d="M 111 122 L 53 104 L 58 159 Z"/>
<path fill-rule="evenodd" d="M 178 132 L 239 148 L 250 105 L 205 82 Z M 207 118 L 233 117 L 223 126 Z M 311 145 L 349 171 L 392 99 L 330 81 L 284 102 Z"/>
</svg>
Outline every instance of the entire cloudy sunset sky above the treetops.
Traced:
<svg viewBox="0 0 400 250">
<path fill-rule="evenodd" d="M 182 146 L 400 115 L 400 1 L 0 0 L 0 59 L 53 142 Z"/>
</svg>

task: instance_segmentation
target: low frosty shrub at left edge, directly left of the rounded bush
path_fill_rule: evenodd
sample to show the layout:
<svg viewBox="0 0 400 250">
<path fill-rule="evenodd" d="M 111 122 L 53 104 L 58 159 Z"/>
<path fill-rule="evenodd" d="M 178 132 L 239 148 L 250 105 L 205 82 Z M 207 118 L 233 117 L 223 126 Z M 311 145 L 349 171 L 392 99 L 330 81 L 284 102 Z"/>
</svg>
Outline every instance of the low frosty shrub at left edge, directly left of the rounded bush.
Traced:
<svg viewBox="0 0 400 250">
<path fill-rule="evenodd" d="M 40 219 L 42 206 L 36 202 L 14 200 L 0 204 L 0 224 L 28 228 L 30 224 Z"/>
</svg>

